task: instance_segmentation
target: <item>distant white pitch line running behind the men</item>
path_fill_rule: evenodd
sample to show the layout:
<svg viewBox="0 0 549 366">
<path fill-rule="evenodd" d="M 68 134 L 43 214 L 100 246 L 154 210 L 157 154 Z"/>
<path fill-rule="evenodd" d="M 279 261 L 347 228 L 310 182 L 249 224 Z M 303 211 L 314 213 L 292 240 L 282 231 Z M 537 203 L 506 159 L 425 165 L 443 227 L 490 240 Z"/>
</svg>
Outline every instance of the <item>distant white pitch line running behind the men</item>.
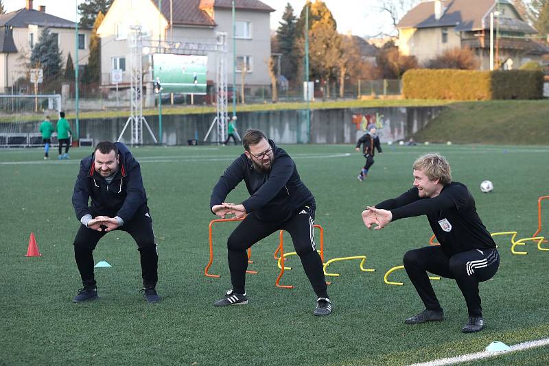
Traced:
<svg viewBox="0 0 549 366">
<path fill-rule="evenodd" d="M 347 156 L 351 156 L 349 153 L 342 153 L 342 154 L 296 154 L 292 157 L 296 160 L 301 159 L 327 159 L 327 158 L 344 158 Z M 198 156 L 178 156 L 175 158 L 163 158 L 163 156 L 148 156 L 143 158 L 137 158 L 137 160 L 141 163 L 145 162 L 212 162 L 212 161 L 232 161 L 235 160 L 235 156 L 212 156 L 212 157 L 203 157 L 200 158 Z M 37 164 L 45 164 L 44 160 L 37 160 L 37 161 L 23 161 L 23 162 L 0 162 L 0 165 L 37 165 Z M 47 162 L 46 164 L 80 164 L 80 160 L 58 160 L 58 161 L 51 161 Z"/>
</svg>

